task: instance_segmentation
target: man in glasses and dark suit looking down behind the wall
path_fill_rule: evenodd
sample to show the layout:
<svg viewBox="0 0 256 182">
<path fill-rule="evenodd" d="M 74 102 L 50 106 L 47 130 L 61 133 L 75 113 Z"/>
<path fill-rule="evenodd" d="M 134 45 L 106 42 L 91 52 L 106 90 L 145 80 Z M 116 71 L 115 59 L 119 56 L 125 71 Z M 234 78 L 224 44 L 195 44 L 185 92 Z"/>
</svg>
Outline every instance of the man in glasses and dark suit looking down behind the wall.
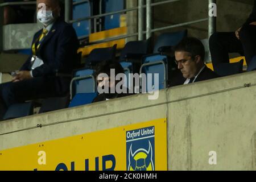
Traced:
<svg viewBox="0 0 256 182">
<path fill-rule="evenodd" d="M 169 86 L 191 84 L 218 77 L 205 65 L 205 50 L 199 39 L 184 38 L 173 49 L 179 71 L 177 71 Z"/>
</svg>

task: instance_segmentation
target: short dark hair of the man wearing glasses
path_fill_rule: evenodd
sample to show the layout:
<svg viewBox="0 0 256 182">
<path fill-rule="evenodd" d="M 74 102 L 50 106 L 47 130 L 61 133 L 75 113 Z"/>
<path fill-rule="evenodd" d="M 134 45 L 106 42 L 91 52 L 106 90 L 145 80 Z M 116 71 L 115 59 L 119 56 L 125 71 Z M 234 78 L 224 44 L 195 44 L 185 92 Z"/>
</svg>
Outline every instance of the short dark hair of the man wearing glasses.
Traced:
<svg viewBox="0 0 256 182">
<path fill-rule="evenodd" d="M 196 38 L 184 38 L 174 48 L 174 51 L 185 51 L 191 53 L 192 57 L 199 55 L 204 61 L 205 49 L 203 43 Z"/>
</svg>

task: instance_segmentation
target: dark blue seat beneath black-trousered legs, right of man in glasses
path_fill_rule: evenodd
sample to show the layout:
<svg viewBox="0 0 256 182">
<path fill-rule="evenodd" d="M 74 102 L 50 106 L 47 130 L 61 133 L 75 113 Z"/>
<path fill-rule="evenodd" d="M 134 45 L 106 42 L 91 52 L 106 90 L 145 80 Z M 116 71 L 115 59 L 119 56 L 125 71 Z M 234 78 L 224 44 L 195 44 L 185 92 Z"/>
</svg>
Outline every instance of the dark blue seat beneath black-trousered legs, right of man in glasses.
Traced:
<svg viewBox="0 0 256 182">
<path fill-rule="evenodd" d="M 214 72 L 219 76 L 229 76 L 242 73 L 243 59 L 237 63 L 220 63 L 215 66 Z"/>
</svg>

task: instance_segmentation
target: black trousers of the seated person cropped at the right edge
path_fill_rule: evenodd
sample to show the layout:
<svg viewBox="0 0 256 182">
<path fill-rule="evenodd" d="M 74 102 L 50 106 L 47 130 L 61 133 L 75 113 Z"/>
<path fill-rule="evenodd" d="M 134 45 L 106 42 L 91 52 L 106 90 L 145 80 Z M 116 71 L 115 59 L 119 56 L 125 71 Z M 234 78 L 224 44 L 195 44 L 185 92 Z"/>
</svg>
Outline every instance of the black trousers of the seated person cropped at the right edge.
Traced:
<svg viewBox="0 0 256 182">
<path fill-rule="evenodd" d="M 216 32 L 209 39 L 213 68 L 220 63 L 229 63 L 228 53 L 245 55 L 247 65 L 256 55 L 256 26 L 247 25 L 240 30 L 240 40 L 235 32 Z"/>
</svg>

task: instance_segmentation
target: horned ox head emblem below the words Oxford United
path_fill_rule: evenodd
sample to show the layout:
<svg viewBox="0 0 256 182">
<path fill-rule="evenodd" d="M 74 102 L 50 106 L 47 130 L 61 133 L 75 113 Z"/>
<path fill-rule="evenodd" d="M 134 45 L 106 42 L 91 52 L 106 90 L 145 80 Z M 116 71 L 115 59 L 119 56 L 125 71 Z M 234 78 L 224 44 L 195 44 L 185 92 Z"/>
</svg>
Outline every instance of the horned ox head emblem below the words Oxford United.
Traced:
<svg viewBox="0 0 256 182">
<path fill-rule="evenodd" d="M 152 146 L 148 141 L 148 150 L 140 148 L 133 153 L 131 146 L 129 150 L 129 167 L 128 170 L 134 171 L 154 171 L 154 165 L 152 161 Z M 132 168 L 132 169 L 131 169 Z"/>
</svg>

